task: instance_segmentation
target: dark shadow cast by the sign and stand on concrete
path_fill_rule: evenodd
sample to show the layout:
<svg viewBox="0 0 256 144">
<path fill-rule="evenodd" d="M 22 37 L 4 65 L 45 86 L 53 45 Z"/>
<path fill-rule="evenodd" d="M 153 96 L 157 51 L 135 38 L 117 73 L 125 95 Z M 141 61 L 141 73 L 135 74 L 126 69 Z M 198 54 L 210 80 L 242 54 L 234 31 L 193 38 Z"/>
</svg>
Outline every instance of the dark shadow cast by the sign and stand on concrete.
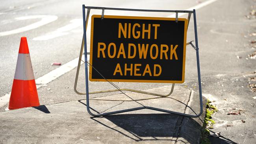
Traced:
<svg viewBox="0 0 256 144">
<path fill-rule="evenodd" d="M 81 101 L 78 100 L 87 106 Z M 187 106 L 187 108 L 192 110 L 191 107 Z M 99 113 L 91 107 L 90 109 Z M 195 111 L 192 110 L 191 113 L 195 113 Z M 198 133 L 201 133 L 202 127 L 193 118 L 167 113 L 113 114 L 103 117 L 91 117 L 91 119 L 134 141 L 157 140 L 159 142 L 191 144 L 200 141 L 200 134 Z M 200 121 L 202 120 L 200 119 Z"/>
</svg>

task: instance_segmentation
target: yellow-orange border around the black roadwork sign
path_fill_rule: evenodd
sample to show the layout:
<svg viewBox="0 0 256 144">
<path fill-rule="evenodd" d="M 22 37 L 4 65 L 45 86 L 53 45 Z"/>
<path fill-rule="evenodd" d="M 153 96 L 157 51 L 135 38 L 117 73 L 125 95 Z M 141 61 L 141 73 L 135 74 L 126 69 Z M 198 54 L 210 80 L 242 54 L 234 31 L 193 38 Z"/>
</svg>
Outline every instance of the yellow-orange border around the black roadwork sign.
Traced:
<svg viewBox="0 0 256 144">
<path fill-rule="evenodd" d="M 94 18 L 101 18 L 101 15 L 92 15 L 91 17 L 91 43 L 90 43 L 90 68 L 89 68 L 89 80 L 90 81 L 106 81 L 105 79 L 92 79 L 92 65 L 93 65 L 93 22 Z M 134 17 L 134 16 L 114 16 L 104 15 L 104 18 L 119 18 L 119 19 L 140 19 L 140 20 L 172 20 L 176 18 L 163 18 L 163 17 Z M 170 80 L 141 80 L 141 79 L 107 79 L 111 82 L 140 82 L 140 83 L 184 83 L 185 80 L 185 63 L 186 63 L 186 43 L 187 43 L 187 19 L 178 18 L 178 21 L 185 21 L 184 24 L 184 46 L 183 46 L 183 64 L 182 64 L 182 80 L 170 81 Z"/>
</svg>

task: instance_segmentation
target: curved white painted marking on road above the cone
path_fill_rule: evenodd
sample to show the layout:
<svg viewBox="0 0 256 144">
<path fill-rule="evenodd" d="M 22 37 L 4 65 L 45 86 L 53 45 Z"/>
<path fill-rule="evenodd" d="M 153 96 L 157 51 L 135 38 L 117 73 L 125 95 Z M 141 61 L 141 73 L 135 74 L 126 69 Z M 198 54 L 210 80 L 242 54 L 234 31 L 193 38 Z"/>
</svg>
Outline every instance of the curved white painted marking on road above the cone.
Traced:
<svg viewBox="0 0 256 144">
<path fill-rule="evenodd" d="M 15 19 L 28 20 L 28 19 L 34 19 L 34 18 L 41 18 L 41 20 L 39 22 L 35 22 L 33 24 L 30 24 L 28 26 L 24 26 L 21 28 L 17 28 L 15 30 L 0 32 L 0 37 L 6 36 L 6 35 L 13 35 L 13 34 L 21 33 L 21 32 L 28 31 L 28 30 L 33 30 L 35 28 L 39 28 L 40 26 L 43 26 L 45 24 L 48 24 L 48 23 L 53 22 L 58 19 L 58 17 L 55 15 L 33 15 L 33 16 L 26 16 L 26 17 L 18 17 Z"/>
</svg>

